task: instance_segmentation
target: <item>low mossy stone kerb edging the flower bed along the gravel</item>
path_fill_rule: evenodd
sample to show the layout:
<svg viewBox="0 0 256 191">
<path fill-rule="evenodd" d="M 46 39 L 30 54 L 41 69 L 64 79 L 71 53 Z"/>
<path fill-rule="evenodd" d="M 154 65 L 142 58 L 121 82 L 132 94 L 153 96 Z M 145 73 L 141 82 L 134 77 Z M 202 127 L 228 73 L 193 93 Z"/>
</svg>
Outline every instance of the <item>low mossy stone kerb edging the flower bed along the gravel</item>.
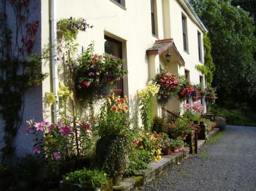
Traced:
<svg viewBox="0 0 256 191">
<path fill-rule="evenodd" d="M 217 133 L 219 129 L 213 129 L 208 133 L 208 138 L 214 133 Z M 205 140 L 198 140 L 198 149 L 205 144 Z M 188 158 L 191 154 L 189 151 L 180 151 L 174 153 L 173 155 L 163 156 L 161 160 L 157 162 L 152 162 L 149 164 L 149 167 L 139 172 L 132 177 L 124 178 L 119 186 L 114 186 L 113 190 L 115 191 L 135 191 L 139 187 L 142 187 L 144 184 L 151 182 L 157 176 L 160 176 L 165 171 L 170 170 L 175 164 L 181 163 L 182 160 Z"/>
</svg>

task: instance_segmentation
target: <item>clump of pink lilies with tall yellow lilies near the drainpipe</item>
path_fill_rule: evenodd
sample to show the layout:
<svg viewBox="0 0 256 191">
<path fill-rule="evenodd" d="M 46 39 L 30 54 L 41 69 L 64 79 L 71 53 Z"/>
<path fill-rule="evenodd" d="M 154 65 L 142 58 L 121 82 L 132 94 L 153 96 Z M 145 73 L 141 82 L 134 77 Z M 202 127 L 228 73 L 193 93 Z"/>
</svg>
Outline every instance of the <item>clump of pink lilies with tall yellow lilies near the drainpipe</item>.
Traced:
<svg viewBox="0 0 256 191">
<path fill-rule="evenodd" d="M 49 122 L 34 122 L 28 120 L 29 128 L 26 134 L 35 135 L 34 148 L 32 151 L 35 154 L 43 155 L 46 157 L 48 164 L 56 170 L 57 165 L 61 161 L 70 160 L 71 157 L 85 155 L 88 152 L 83 144 L 85 141 L 90 140 L 92 133 L 91 125 L 93 120 L 80 119 L 78 113 L 70 116 L 68 112 L 68 100 L 73 102 L 73 93 L 68 90 L 64 85 L 60 85 L 58 90 L 58 99 L 52 93 L 48 94 L 48 103 L 53 104 L 58 100 L 59 112 L 57 123 Z M 45 132 L 45 136 L 41 138 L 41 133 Z M 78 136 L 79 134 L 79 136 Z"/>
</svg>

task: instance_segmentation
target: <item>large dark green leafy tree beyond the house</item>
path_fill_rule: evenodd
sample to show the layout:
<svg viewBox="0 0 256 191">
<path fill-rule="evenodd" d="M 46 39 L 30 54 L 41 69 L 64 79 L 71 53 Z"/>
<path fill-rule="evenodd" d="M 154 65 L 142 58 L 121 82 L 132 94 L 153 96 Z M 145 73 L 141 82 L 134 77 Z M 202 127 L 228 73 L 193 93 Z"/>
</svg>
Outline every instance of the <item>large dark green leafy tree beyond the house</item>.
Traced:
<svg viewBox="0 0 256 191">
<path fill-rule="evenodd" d="M 191 0 L 212 43 L 218 103 L 248 101 L 256 93 L 256 38 L 249 14 L 228 0 Z"/>
</svg>

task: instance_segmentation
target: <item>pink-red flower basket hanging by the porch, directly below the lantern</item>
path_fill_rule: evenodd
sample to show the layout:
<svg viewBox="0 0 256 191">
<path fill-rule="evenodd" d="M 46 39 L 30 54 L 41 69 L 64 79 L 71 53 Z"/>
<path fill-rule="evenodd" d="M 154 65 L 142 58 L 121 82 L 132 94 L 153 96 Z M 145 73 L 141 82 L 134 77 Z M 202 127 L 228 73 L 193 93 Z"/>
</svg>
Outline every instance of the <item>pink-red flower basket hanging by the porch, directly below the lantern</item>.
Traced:
<svg viewBox="0 0 256 191">
<path fill-rule="evenodd" d="M 179 90 L 179 78 L 172 75 L 170 72 L 161 72 L 160 74 L 157 74 L 153 81 L 160 85 L 157 98 L 158 101 L 163 104 L 166 104 L 171 97 L 176 96 L 177 91 Z"/>
</svg>

